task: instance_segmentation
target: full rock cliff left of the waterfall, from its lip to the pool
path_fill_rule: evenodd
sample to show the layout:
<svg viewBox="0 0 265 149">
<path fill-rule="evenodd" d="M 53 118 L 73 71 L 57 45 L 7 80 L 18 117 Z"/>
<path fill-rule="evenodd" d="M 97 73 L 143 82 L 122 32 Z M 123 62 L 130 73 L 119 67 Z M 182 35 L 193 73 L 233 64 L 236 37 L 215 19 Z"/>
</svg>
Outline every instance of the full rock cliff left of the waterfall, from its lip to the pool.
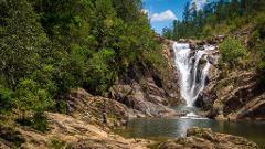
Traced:
<svg viewBox="0 0 265 149">
<path fill-rule="evenodd" d="M 110 89 L 110 97 L 131 108 L 136 116 L 176 116 L 169 106 L 180 100 L 178 75 L 173 64 L 172 42 L 159 39 L 167 61 L 166 73 L 144 62 L 132 65 Z"/>
</svg>

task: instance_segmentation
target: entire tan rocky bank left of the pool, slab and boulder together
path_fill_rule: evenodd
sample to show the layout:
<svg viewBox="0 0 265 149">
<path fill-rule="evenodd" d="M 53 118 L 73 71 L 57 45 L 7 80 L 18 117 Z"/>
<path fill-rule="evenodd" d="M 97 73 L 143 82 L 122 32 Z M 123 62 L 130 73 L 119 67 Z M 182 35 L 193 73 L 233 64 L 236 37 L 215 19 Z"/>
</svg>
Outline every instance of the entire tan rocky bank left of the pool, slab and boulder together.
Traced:
<svg viewBox="0 0 265 149">
<path fill-rule="evenodd" d="M 125 139 L 112 132 L 134 114 L 114 99 L 92 96 L 77 88 L 71 91 L 67 105 L 67 115 L 45 113 L 49 123 L 45 132 L 14 121 L 0 125 L 0 148 L 145 149 L 152 143 L 142 139 Z M 106 123 L 103 123 L 103 115 Z"/>
</svg>

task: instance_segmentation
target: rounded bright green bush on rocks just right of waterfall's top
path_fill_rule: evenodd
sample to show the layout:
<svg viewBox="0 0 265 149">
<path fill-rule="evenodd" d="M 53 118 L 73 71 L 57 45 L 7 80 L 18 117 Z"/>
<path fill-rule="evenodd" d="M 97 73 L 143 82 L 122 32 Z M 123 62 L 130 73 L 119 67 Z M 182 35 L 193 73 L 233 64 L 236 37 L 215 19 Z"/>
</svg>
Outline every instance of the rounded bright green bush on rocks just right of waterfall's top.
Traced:
<svg viewBox="0 0 265 149">
<path fill-rule="evenodd" d="M 235 38 L 229 36 L 219 45 L 222 61 L 231 67 L 240 62 L 240 58 L 246 56 L 247 52 L 244 45 Z"/>
</svg>

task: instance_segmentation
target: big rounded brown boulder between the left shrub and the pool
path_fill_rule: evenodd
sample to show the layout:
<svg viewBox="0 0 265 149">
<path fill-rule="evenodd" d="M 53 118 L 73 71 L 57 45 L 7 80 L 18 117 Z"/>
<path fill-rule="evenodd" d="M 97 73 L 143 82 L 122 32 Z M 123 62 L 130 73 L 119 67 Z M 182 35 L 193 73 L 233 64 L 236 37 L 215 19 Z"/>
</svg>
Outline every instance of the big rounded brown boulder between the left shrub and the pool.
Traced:
<svg viewBox="0 0 265 149">
<path fill-rule="evenodd" d="M 109 127 L 120 126 L 129 117 L 129 109 L 124 104 L 100 96 L 92 96 L 83 88 L 71 89 L 67 106 L 71 116 L 92 124 L 100 125 L 103 114 L 106 113 Z"/>
</svg>

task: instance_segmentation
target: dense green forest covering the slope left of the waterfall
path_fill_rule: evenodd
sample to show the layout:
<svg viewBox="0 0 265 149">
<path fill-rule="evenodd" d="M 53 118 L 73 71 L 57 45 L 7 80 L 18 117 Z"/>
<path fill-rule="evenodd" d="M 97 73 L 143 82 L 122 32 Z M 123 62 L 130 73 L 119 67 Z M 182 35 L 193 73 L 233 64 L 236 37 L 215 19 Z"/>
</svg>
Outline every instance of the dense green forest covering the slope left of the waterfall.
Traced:
<svg viewBox="0 0 265 149">
<path fill-rule="evenodd" d="M 140 0 L 4 0 L 0 9 L 1 114 L 64 113 L 70 88 L 105 95 L 136 62 L 162 63 Z"/>
</svg>

